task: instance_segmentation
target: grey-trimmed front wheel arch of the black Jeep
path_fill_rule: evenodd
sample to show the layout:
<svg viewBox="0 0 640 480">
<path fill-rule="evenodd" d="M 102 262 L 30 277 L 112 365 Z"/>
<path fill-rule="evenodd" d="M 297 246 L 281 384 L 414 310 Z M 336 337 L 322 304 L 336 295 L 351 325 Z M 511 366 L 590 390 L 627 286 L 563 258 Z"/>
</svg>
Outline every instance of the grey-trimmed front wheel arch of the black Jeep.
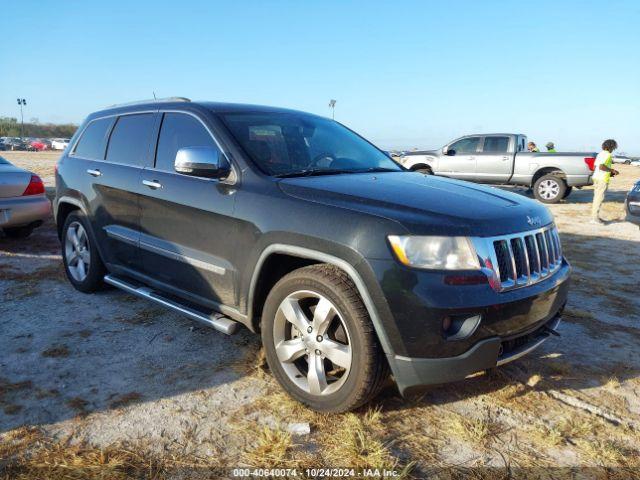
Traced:
<svg viewBox="0 0 640 480">
<path fill-rule="evenodd" d="M 275 257 L 272 257 L 274 256 Z M 371 318 L 371 322 L 373 323 L 374 330 L 376 332 L 376 336 L 382 349 L 386 355 L 393 355 L 393 349 L 391 347 L 391 342 L 384 330 L 382 325 L 382 321 L 378 314 L 378 310 L 374 305 L 373 299 L 369 294 L 369 290 L 362 279 L 362 276 L 358 273 L 358 271 L 346 260 L 336 257 L 334 255 L 330 255 L 324 252 L 320 252 L 317 250 L 312 250 L 306 247 L 299 247 L 295 245 L 287 245 L 287 244 L 273 244 L 268 246 L 261 253 L 258 262 L 256 263 L 253 275 L 251 277 L 251 283 L 249 286 L 249 295 L 248 295 L 248 323 L 250 324 L 250 328 L 254 331 L 259 330 L 260 326 L 260 315 L 257 312 L 260 310 L 260 295 L 264 295 L 262 301 L 266 299 L 266 295 L 271 290 L 271 288 L 266 289 L 264 284 L 259 284 L 261 279 L 264 280 L 265 277 L 263 275 L 264 267 L 267 264 L 269 258 L 282 259 L 282 258 L 295 258 L 297 260 L 295 262 L 299 262 L 298 265 L 300 268 L 306 265 L 313 265 L 318 263 L 327 263 L 330 265 L 334 265 L 338 267 L 340 270 L 344 271 L 351 281 L 354 283 L 362 301 L 364 303 L 365 308 L 367 309 L 367 313 L 369 314 L 369 318 Z M 273 261 L 273 260 L 272 260 Z M 295 270 L 296 268 L 291 269 L 290 271 Z M 288 272 L 287 272 L 288 273 Z M 286 275 L 286 273 L 285 273 Z M 282 278 L 282 277 L 279 277 Z M 278 279 L 279 279 L 278 278 Z M 277 280 L 275 280 L 277 282 Z M 271 284 L 271 287 L 275 284 Z M 268 284 L 267 284 L 268 285 Z M 262 289 L 262 290 L 260 290 Z M 264 292 L 266 290 L 266 292 Z M 257 307 L 257 308 L 256 308 Z"/>
</svg>

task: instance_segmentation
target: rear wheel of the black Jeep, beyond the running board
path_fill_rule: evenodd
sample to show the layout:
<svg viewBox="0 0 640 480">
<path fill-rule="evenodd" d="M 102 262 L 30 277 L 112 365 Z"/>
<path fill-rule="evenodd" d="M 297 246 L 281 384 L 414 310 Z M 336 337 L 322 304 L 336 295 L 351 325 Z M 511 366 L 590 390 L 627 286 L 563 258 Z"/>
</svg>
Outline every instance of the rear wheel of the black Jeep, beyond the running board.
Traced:
<svg viewBox="0 0 640 480">
<path fill-rule="evenodd" d="M 106 270 L 95 245 L 86 217 L 70 213 L 62 227 L 62 261 L 71 284 L 84 293 L 104 288 Z"/>
</svg>

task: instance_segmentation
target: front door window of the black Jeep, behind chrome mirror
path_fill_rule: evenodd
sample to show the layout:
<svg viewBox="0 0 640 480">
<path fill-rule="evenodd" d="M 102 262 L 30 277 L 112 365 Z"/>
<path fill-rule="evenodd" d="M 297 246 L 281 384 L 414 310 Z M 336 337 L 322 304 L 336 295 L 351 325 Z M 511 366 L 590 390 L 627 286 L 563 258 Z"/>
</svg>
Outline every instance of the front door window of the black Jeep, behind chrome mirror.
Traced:
<svg viewBox="0 0 640 480">
<path fill-rule="evenodd" d="M 176 153 L 182 147 L 215 147 L 206 128 L 191 115 L 165 113 L 156 151 L 156 168 L 173 172 Z"/>
</svg>

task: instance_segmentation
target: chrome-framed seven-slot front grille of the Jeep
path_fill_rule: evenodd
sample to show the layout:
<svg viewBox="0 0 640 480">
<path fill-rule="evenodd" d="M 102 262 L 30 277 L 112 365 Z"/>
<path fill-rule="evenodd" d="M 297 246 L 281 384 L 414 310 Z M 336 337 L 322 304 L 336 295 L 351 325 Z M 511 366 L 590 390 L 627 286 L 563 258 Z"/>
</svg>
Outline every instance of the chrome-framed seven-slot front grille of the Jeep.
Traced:
<svg viewBox="0 0 640 480">
<path fill-rule="evenodd" d="M 483 266 L 499 280 L 497 290 L 525 287 L 562 265 L 560 236 L 554 225 L 514 235 L 473 239 Z"/>
</svg>

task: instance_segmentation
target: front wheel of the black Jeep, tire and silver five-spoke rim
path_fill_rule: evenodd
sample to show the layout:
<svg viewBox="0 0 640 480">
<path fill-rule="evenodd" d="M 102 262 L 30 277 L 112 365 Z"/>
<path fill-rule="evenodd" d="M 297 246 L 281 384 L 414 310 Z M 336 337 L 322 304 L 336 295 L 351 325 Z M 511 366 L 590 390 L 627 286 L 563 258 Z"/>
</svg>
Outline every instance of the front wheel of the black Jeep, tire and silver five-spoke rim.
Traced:
<svg viewBox="0 0 640 480">
<path fill-rule="evenodd" d="M 388 365 L 357 289 L 342 270 L 311 265 L 283 277 L 262 314 L 269 368 L 296 400 L 321 412 L 370 401 Z"/>
</svg>

